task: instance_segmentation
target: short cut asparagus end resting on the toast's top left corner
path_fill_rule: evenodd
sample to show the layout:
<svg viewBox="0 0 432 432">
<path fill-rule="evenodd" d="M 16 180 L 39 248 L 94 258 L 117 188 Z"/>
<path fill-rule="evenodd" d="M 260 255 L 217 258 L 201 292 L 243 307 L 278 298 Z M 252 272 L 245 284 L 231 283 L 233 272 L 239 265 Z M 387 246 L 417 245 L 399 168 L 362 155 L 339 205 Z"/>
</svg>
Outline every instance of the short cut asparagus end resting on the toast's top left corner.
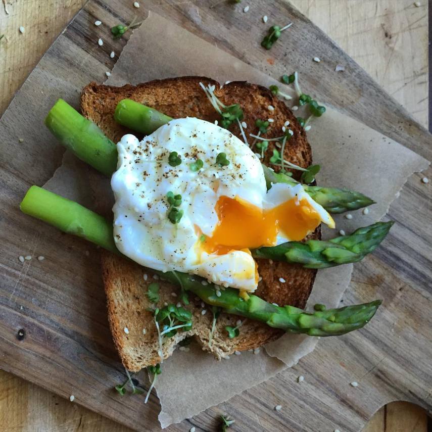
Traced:
<svg viewBox="0 0 432 432">
<path fill-rule="evenodd" d="M 123 99 L 117 104 L 114 119 L 117 123 L 146 135 L 172 120 L 171 117 L 131 99 Z"/>
</svg>

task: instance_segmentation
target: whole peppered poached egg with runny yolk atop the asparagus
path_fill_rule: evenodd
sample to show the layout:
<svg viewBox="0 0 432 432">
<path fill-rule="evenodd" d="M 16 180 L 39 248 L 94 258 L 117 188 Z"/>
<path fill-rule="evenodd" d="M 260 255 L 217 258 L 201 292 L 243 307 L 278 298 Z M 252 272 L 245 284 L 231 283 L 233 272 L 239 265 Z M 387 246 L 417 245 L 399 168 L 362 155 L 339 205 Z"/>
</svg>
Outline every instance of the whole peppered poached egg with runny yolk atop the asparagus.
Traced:
<svg viewBox="0 0 432 432">
<path fill-rule="evenodd" d="M 143 266 L 253 292 L 258 271 L 250 249 L 299 241 L 321 222 L 334 227 L 301 184 L 277 183 L 267 191 L 258 157 L 213 123 L 171 120 L 141 141 L 124 135 L 117 150 L 114 240 Z M 179 165 L 170 165 L 171 152 Z M 228 165 L 216 162 L 220 153 Z M 194 170 L 198 159 L 203 166 Z M 168 218 L 168 193 L 181 195 L 177 223 Z"/>
</svg>

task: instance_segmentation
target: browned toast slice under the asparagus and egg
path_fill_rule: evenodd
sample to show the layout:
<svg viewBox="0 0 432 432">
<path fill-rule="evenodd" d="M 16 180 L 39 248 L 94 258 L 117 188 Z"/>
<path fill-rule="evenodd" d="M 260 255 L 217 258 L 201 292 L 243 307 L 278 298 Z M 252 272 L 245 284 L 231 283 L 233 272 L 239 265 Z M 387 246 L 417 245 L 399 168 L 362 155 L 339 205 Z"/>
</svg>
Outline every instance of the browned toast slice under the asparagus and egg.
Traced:
<svg viewBox="0 0 432 432">
<path fill-rule="evenodd" d="M 256 119 L 273 119 L 268 137 L 280 136 L 282 126 L 289 121 L 294 135 L 286 144 L 285 160 L 301 167 L 307 167 L 312 163 L 311 148 L 306 134 L 293 112 L 267 88 L 243 81 L 230 82 L 222 87 L 218 82 L 205 77 L 179 77 L 123 87 L 91 82 L 81 92 L 81 110 L 85 117 L 96 123 L 114 142 L 118 142 L 125 133 L 134 133 L 114 121 L 115 107 L 125 98 L 153 107 L 173 118 L 188 116 L 214 122 L 219 119 L 219 115 L 208 101 L 199 85 L 200 82 L 204 85 L 214 85 L 216 96 L 225 105 L 239 103 L 242 106 L 247 136 L 251 132 L 257 134 Z M 230 131 L 242 139 L 238 125 L 231 125 Z M 141 139 L 142 136 L 138 135 L 138 138 Z M 274 141 L 269 142 L 269 150 L 264 158 L 267 164 L 274 144 Z M 293 172 L 294 177 L 298 174 L 298 171 Z M 317 228 L 309 237 L 320 238 L 320 229 Z M 148 310 L 152 305 L 145 293 L 148 285 L 155 281 L 154 279 L 158 279 L 158 306 L 163 306 L 164 303 L 178 302 L 179 289 L 161 280 L 151 270 L 109 252 L 102 253 L 102 268 L 110 327 L 124 366 L 131 371 L 138 371 L 142 367 L 159 363 L 158 335 L 153 312 Z M 305 269 L 295 264 L 258 260 L 258 271 L 262 280 L 255 294 L 271 303 L 305 307 L 316 270 Z M 210 344 L 213 320 L 211 308 L 198 298 L 189 300 L 190 304 L 186 308 L 193 313 L 193 327 L 190 331 L 179 332 L 164 341 L 164 358 L 170 356 L 178 343 L 189 336 L 193 336 L 203 350 L 213 353 L 220 359 L 234 351 L 258 348 L 283 334 L 282 330 L 246 320 L 242 324 L 239 336 L 229 339 L 225 326 L 235 326 L 241 317 L 222 313 L 216 321 Z"/>
</svg>

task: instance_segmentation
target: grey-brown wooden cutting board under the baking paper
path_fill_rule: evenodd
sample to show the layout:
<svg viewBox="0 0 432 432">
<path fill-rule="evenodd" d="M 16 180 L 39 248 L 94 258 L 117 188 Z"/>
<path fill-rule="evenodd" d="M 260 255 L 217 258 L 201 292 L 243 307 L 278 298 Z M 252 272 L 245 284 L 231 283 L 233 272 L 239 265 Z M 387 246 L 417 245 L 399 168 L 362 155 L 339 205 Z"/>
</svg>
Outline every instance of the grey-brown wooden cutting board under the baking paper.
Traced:
<svg viewBox="0 0 432 432">
<path fill-rule="evenodd" d="M 59 89 L 77 100 L 77 89 L 90 79 L 102 81 L 114 64 L 108 54 L 113 49 L 119 54 L 126 42 L 127 38 L 113 42 L 108 27 L 96 29 L 94 20 L 114 25 L 129 21 L 136 13 L 145 16 L 142 4 L 137 11 L 123 3 L 89 2 L 29 76 L 0 121 L 0 366 L 62 396 L 74 394 L 77 403 L 117 421 L 149 430 L 158 428 L 156 398 L 143 407 L 137 398 L 119 398 L 112 392 L 123 369 L 107 327 L 97 250 L 17 210 L 26 188 L 43 183 L 59 165 L 62 150 L 41 127 Z M 273 76 L 285 72 L 286 47 L 276 44 L 270 53 L 256 49 L 261 37 L 253 25 L 256 17 L 232 5 L 210 9 L 209 4 L 146 2 L 159 14 L 209 41 L 216 40 L 219 47 L 257 68 Z M 264 4 L 256 2 L 254 8 L 265 10 Z M 284 3 L 273 6 L 272 18 L 294 21 L 300 29 L 286 63 L 300 65 L 308 88 L 321 100 L 342 107 L 431 159 L 427 132 L 316 27 Z M 103 49 L 97 45 L 101 34 Z M 304 59 L 316 52 L 326 53 L 334 64 L 352 68 L 349 74 L 338 75 L 337 87 L 333 88 L 330 61 L 329 66 L 320 65 L 324 67 L 319 77 L 309 76 L 306 65 L 302 70 Z M 276 60 L 271 67 L 269 55 L 270 63 Z M 19 137 L 24 142 L 17 146 Z M 411 141 L 415 147 L 409 145 Z M 397 229 L 377 253 L 356 265 L 345 297 L 347 303 L 381 297 L 385 310 L 363 330 L 323 341 L 295 368 L 196 416 L 191 423 L 197 430 L 214 427 L 213 418 L 221 411 L 237 419 L 237 430 L 358 430 L 390 400 L 410 400 L 430 410 L 431 207 L 430 189 L 419 178 L 409 179 L 391 207 L 390 217 L 398 222 Z M 19 255 L 44 255 L 46 259 L 22 265 Z M 78 268 L 84 271 L 77 272 Z M 21 328 L 25 338 L 18 341 Z M 295 382 L 299 374 L 306 376 L 305 386 Z M 360 383 L 357 389 L 349 386 L 354 379 Z M 284 401 L 284 410 L 276 413 L 272 408 L 280 401 Z M 190 426 L 185 421 L 171 430 Z"/>
</svg>

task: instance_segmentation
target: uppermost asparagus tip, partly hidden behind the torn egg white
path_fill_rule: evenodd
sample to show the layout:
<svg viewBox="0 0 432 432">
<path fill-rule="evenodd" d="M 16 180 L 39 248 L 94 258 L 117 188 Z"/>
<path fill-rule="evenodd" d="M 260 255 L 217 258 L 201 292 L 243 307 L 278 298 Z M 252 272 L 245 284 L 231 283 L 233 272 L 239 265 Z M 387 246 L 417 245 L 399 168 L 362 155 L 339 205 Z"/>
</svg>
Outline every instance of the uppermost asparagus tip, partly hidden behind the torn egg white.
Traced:
<svg viewBox="0 0 432 432">
<path fill-rule="evenodd" d="M 270 189 L 272 183 L 287 183 L 291 186 L 295 186 L 299 183 L 289 175 L 276 173 L 264 164 L 262 167 L 267 189 Z M 312 200 L 320 204 L 330 213 L 344 213 L 375 203 L 375 201 L 354 190 L 339 189 L 337 187 L 310 186 L 308 184 L 303 184 L 303 188 Z"/>
</svg>

